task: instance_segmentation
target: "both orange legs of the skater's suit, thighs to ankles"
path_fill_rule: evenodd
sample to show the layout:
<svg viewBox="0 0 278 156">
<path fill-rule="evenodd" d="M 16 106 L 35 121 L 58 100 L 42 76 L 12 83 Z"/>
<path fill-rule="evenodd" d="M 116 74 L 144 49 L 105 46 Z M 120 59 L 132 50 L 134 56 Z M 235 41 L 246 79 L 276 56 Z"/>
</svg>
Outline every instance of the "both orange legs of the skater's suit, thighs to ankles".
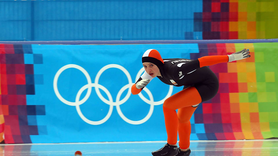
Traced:
<svg viewBox="0 0 278 156">
<path fill-rule="evenodd" d="M 186 88 L 164 101 L 163 112 L 168 144 L 176 144 L 179 133 L 180 148 L 186 149 L 189 147 L 190 118 L 197 108 L 192 107 L 192 105 L 197 105 L 201 102 L 201 96 L 195 87 Z M 178 114 L 175 111 L 176 109 L 178 109 Z"/>
</svg>

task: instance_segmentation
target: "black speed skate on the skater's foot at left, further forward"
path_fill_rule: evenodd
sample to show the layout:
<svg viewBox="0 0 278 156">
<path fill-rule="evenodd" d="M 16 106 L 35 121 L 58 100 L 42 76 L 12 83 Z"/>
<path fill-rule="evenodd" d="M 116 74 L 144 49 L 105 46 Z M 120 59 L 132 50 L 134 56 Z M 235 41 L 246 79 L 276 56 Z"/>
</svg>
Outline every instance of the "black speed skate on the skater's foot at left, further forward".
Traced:
<svg viewBox="0 0 278 156">
<path fill-rule="evenodd" d="M 153 156 L 174 156 L 179 152 L 178 146 L 172 146 L 168 143 L 164 145 L 164 147 L 160 148 L 157 151 L 153 151 L 151 154 Z"/>
</svg>

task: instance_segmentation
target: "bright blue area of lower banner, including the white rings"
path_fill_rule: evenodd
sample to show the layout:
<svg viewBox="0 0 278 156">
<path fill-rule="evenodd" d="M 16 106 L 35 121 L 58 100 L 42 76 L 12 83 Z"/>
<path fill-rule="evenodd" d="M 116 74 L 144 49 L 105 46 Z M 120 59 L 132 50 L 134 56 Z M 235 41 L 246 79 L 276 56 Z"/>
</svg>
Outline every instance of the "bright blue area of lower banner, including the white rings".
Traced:
<svg viewBox="0 0 278 156">
<path fill-rule="evenodd" d="M 131 94 L 147 49 L 163 58 L 199 53 L 198 44 L 33 44 L 33 58 L 24 54 L 25 64 L 34 63 L 35 94 L 26 95 L 27 105 L 44 105 L 45 115 L 28 117 L 38 125 L 32 143 L 167 140 L 162 103 L 182 87 L 155 78 L 142 94 Z"/>
</svg>

